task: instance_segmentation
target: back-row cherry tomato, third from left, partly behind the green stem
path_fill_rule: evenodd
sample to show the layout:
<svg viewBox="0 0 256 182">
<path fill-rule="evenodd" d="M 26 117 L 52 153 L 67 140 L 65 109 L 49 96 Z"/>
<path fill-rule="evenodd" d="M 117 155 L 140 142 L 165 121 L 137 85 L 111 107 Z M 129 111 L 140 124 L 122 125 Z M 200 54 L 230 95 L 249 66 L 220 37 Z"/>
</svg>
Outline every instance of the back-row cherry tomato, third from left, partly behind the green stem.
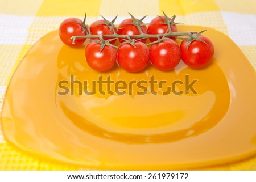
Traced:
<svg viewBox="0 0 256 182">
<path fill-rule="evenodd" d="M 128 18 L 123 20 L 120 24 L 119 24 L 119 28 L 117 30 L 117 33 L 119 35 L 139 35 L 139 30 L 136 26 L 134 26 L 133 24 L 127 24 L 127 23 L 133 23 L 133 19 Z M 143 22 L 142 22 L 143 23 Z M 143 33 L 147 33 L 147 27 L 146 26 L 141 26 L 141 30 Z M 138 41 L 141 41 L 142 43 L 146 42 L 146 38 L 145 39 L 141 39 Z M 119 39 L 119 41 L 122 43 L 123 39 Z"/>
</svg>

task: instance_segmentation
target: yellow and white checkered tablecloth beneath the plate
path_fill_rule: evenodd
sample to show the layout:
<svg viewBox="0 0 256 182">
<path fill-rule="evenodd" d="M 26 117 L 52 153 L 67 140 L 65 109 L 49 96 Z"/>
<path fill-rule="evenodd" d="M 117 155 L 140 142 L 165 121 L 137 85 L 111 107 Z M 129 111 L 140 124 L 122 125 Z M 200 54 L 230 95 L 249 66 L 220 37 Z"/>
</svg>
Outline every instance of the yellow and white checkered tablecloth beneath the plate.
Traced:
<svg viewBox="0 0 256 182">
<path fill-rule="evenodd" d="M 117 24 L 128 17 L 177 15 L 176 22 L 212 27 L 228 35 L 256 69 L 255 0 L 0 0 L 0 109 L 6 87 L 28 49 L 62 20 L 82 16 L 87 23 L 118 15 Z M 0 110 L 1 111 L 1 110 Z M 1 122 L 1 121 L 0 121 Z M 22 153 L 5 141 L 0 128 L 0 170 L 77 170 L 76 166 L 44 161 Z M 256 157 L 239 163 L 203 170 L 256 170 Z"/>
</svg>

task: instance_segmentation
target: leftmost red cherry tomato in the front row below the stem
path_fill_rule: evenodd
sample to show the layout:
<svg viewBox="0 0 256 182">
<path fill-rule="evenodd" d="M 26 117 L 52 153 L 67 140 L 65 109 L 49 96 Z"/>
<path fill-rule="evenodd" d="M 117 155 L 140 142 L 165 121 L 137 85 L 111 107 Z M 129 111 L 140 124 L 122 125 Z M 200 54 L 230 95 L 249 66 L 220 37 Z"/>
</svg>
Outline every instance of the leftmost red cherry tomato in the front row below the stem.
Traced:
<svg viewBox="0 0 256 182">
<path fill-rule="evenodd" d="M 97 71 L 107 71 L 112 68 L 117 60 L 117 53 L 112 46 L 105 45 L 100 52 L 101 44 L 91 41 L 85 49 L 88 65 Z"/>
</svg>

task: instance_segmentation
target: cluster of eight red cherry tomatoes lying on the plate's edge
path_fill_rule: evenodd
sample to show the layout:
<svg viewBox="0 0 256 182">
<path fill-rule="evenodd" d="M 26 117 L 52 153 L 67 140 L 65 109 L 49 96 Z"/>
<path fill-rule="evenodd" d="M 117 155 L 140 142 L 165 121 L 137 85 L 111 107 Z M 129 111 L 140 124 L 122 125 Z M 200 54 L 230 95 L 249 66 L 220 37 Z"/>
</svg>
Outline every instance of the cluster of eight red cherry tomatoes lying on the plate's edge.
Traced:
<svg viewBox="0 0 256 182">
<path fill-rule="evenodd" d="M 168 24 L 164 23 L 166 16 L 156 16 L 152 19 L 149 26 L 146 27 L 143 22 L 135 26 L 134 18 L 125 19 L 119 24 L 119 27 L 110 27 L 106 20 L 97 20 L 89 27 L 89 35 L 158 35 L 168 33 Z M 137 19 L 138 20 L 138 19 Z M 109 21 L 108 21 L 109 22 Z M 107 22 L 107 23 L 108 23 Z M 85 29 L 83 22 L 77 18 L 64 20 L 59 28 L 59 35 L 63 43 L 69 46 L 79 46 L 85 39 L 76 39 L 72 44 L 72 36 L 88 35 L 88 29 Z M 177 32 L 176 24 L 171 24 L 171 31 Z M 88 65 L 97 71 L 107 71 L 111 69 L 116 62 L 119 66 L 129 72 L 138 72 L 143 70 L 148 62 L 151 62 L 156 69 L 169 71 L 179 64 L 182 59 L 185 64 L 193 68 L 204 67 L 209 64 L 213 58 L 214 47 L 212 42 L 203 35 L 190 36 L 183 40 L 180 46 L 176 43 L 176 37 L 169 36 L 159 40 L 156 37 L 150 37 L 150 48 L 145 44 L 146 39 L 119 38 L 118 48 L 111 46 L 115 43 L 113 37 L 103 37 L 106 44 L 102 48 L 100 41 L 90 41 L 86 46 L 85 56 Z M 189 39 L 190 38 L 190 39 Z M 90 38 L 90 40 L 99 40 Z"/>
</svg>

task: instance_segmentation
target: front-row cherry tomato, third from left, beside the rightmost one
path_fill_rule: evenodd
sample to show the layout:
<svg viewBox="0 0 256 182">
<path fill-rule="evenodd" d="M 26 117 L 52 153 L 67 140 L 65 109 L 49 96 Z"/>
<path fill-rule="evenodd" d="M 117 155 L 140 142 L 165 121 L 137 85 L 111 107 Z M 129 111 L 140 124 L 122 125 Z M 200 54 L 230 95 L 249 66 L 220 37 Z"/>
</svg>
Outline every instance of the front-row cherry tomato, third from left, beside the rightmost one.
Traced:
<svg viewBox="0 0 256 182">
<path fill-rule="evenodd" d="M 150 47 L 150 61 L 157 69 L 169 71 L 180 62 L 180 47 L 171 39 L 163 40 Z"/>
</svg>

